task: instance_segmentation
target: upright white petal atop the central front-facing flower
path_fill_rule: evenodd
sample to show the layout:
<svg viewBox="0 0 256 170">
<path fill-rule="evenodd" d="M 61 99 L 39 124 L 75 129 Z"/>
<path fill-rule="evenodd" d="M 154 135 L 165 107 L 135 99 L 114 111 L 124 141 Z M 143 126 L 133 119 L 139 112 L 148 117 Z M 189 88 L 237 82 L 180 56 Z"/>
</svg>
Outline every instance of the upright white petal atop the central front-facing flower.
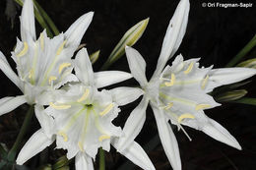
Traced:
<svg viewBox="0 0 256 170">
<path fill-rule="evenodd" d="M 94 71 L 86 48 L 82 48 L 76 56 L 75 71 L 84 85 L 94 85 Z"/>
</svg>

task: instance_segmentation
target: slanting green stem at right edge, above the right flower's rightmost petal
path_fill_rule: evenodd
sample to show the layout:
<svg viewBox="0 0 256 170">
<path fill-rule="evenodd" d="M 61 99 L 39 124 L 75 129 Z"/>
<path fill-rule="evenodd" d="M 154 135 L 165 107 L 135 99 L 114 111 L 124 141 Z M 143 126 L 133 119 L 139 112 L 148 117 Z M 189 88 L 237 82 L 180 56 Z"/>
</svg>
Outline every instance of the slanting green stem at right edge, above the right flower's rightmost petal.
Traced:
<svg viewBox="0 0 256 170">
<path fill-rule="evenodd" d="M 241 51 L 234 56 L 225 67 L 232 67 L 237 64 L 250 50 L 256 45 L 256 34 L 253 38 L 241 49 Z"/>
</svg>

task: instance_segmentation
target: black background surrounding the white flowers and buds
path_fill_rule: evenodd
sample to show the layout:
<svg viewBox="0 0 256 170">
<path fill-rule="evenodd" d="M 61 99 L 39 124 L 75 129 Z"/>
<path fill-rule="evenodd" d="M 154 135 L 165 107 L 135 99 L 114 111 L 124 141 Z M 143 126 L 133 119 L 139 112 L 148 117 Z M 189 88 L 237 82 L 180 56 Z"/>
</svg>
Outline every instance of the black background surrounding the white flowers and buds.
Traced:
<svg viewBox="0 0 256 170">
<path fill-rule="evenodd" d="M 10 52 L 16 44 L 16 36 L 20 37 L 19 16 L 21 8 L 14 7 L 13 24 L 7 20 L 5 14 L 6 2 L 0 1 L 0 50 L 6 55 L 8 61 L 15 68 L 10 58 Z M 141 20 L 150 17 L 150 23 L 142 38 L 134 45 L 144 56 L 147 62 L 147 77 L 150 78 L 157 66 L 160 46 L 178 4 L 178 0 L 38 0 L 37 1 L 54 21 L 59 30 L 65 31 L 81 15 L 95 11 L 94 20 L 86 32 L 82 43 L 87 43 L 89 53 L 100 49 L 99 60 L 94 65 L 95 71 L 101 67 L 111 50 L 117 44 L 125 31 Z M 202 3 L 217 1 L 192 1 L 190 6 L 189 22 L 182 44 L 176 54 L 182 53 L 185 59 L 201 57 L 204 66 L 215 65 L 215 68 L 224 67 L 225 64 L 254 36 L 256 30 L 256 3 L 252 8 L 203 8 Z M 232 2 L 235 1 L 222 1 Z M 245 1 L 237 1 L 244 2 Z M 253 3 L 253 0 L 249 1 Z M 10 3 L 10 2 L 9 2 Z M 15 4 L 15 3 L 14 3 Z M 37 35 L 42 30 L 36 23 Z M 254 58 L 255 50 L 246 58 Z M 172 60 L 170 60 L 169 64 Z M 129 72 L 125 57 L 116 62 L 110 70 Z M 21 94 L 3 73 L 0 73 L 0 96 L 13 96 Z M 136 85 L 135 81 L 121 85 Z M 255 83 L 245 85 L 249 90 L 247 96 L 255 97 Z M 137 103 L 139 100 L 137 101 Z M 123 124 L 129 112 L 137 105 L 132 103 L 123 108 L 123 112 L 115 120 L 116 124 Z M 15 141 L 19 127 L 22 125 L 25 110 L 23 105 L 0 118 L 0 142 L 11 147 Z M 174 128 L 179 142 L 182 167 L 184 170 L 253 170 L 256 166 L 256 112 L 255 106 L 223 103 L 222 107 L 207 110 L 206 114 L 222 124 L 240 142 L 243 150 L 239 151 L 222 142 L 216 142 L 201 132 L 185 127 L 192 138 L 189 142 L 182 132 Z M 160 145 L 156 122 L 151 108 L 148 108 L 147 120 L 141 135 L 136 139 L 146 147 L 156 169 L 170 169 L 163 149 Z M 39 128 L 33 118 L 32 129 L 27 139 Z M 25 142 L 26 140 L 25 139 Z M 152 140 L 153 139 L 153 140 Z M 150 144 L 148 143 L 150 142 Z M 148 143 L 148 144 L 147 144 Z M 48 152 L 49 157 L 43 163 L 53 163 L 63 151 Z M 38 166 L 38 157 L 35 156 L 27 163 L 35 169 Z M 106 168 L 117 169 L 126 162 L 124 157 L 111 149 L 106 154 Z M 97 163 L 97 159 L 96 159 Z M 71 166 L 72 167 L 72 166 Z M 134 169 L 125 165 L 124 169 Z M 96 165 L 97 168 L 97 165 Z"/>
</svg>

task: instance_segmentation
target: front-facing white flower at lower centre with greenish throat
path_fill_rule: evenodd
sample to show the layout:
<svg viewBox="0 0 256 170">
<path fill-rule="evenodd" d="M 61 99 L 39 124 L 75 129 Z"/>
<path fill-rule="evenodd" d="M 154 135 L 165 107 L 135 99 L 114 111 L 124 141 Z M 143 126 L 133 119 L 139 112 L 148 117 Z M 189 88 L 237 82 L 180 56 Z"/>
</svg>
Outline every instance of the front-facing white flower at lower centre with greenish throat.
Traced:
<svg viewBox="0 0 256 170">
<path fill-rule="evenodd" d="M 85 48 L 78 52 L 74 65 L 80 83 L 64 85 L 56 90 L 49 107 L 36 110 L 36 115 L 44 115 L 43 119 L 37 116 L 42 130 L 35 133 L 22 148 L 17 158 L 18 164 L 23 164 L 48 145 L 43 144 L 43 147 L 32 150 L 37 144 L 33 143 L 34 136 L 48 139 L 45 143 L 53 142 L 56 137 L 57 148 L 67 149 L 69 159 L 76 157 L 77 170 L 94 169 L 93 159 L 97 149 L 102 147 L 109 151 L 110 143 L 116 146 L 116 141 L 122 136 L 121 128 L 111 123 L 120 111 L 118 106 L 134 101 L 143 91 L 133 87 L 98 91 L 97 87 L 130 79 L 131 75 L 118 71 L 94 73 Z M 137 142 L 131 142 L 121 153 L 143 169 L 155 169 Z"/>
</svg>

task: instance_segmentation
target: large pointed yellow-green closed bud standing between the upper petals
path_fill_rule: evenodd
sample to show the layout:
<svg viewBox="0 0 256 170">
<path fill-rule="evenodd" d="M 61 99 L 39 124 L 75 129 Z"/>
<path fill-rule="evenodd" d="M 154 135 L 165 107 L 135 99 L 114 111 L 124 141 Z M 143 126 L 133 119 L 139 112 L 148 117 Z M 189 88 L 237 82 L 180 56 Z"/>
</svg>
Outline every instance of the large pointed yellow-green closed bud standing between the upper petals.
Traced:
<svg viewBox="0 0 256 170">
<path fill-rule="evenodd" d="M 111 64 L 116 62 L 121 56 L 124 55 L 126 45 L 132 46 L 140 39 L 144 33 L 144 30 L 148 26 L 149 20 L 149 18 L 145 19 L 125 32 L 121 40 L 115 46 L 106 62 L 102 66 L 102 70 L 106 70 Z"/>
</svg>

